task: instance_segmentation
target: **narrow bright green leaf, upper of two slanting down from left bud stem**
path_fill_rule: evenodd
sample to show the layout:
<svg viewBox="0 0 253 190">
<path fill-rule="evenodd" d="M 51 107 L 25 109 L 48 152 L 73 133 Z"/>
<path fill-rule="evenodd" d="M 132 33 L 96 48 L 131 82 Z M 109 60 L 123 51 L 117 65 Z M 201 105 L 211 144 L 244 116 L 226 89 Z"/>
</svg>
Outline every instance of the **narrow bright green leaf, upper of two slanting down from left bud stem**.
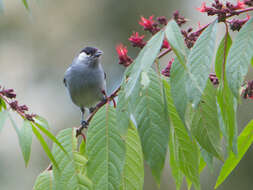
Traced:
<svg viewBox="0 0 253 190">
<path fill-rule="evenodd" d="M 37 123 L 37 121 L 39 121 Z M 47 137 L 49 137 L 54 143 L 56 143 L 62 150 L 63 152 L 65 152 L 66 154 L 67 151 L 64 149 L 64 147 L 61 145 L 61 143 L 57 140 L 57 138 L 50 132 L 48 131 L 48 125 L 46 125 L 46 121 L 41 122 L 41 120 L 38 120 L 38 117 L 35 120 L 35 123 L 32 123 L 34 125 L 34 127 L 38 127 L 40 129 L 41 132 L 43 132 Z"/>
</svg>

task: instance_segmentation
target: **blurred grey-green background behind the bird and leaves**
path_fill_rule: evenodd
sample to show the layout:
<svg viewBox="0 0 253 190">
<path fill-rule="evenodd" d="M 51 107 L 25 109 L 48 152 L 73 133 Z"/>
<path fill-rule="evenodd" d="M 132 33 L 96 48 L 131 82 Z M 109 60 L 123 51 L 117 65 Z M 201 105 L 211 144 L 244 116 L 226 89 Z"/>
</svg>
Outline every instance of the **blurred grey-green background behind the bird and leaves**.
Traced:
<svg viewBox="0 0 253 190">
<path fill-rule="evenodd" d="M 189 0 L 30 0 L 29 14 L 20 0 L 3 1 L 0 15 L 0 85 L 14 88 L 21 104 L 45 117 L 51 130 L 78 126 L 79 109 L 75 107 L 62 83 L 63 75 L 77 52 L 87 45 L 104 51 L 103 66 L 107 73 L 108 92 L 120 82 L 124 68 L 117 64 L 115 45 L 130 45 L 128 37 L 140 31 L 138 20 L 148 17 L 170 17 L 179 10 L 188 25 L 212 20 L 196 11 L 201 1 Z M 218 39 L 222 38 L 223 26 Z M 137 50 L 129 48 L 135 56 Z M 163 59 L 163 65 L 167 63 Z M 250 72 L 251 77 L 252 70 Z M 238 110 L 240 131 L 253 114 L 252 101 L 242 100 Z M 17 121 L 19 123 L 19 121 Z M 250 148 L 239 166 L 219 190 L 250 190 L 253 186 L 253 150 Z M 31 161 L 25 168 L 17 136 L 9 122 L 0 133 L 0 190 L 32 189 L 36 176 L 49 164 L 41 146 L 34 138 Z M 201 175 L 203 190 L 211 190 L 220 164 L 213 173 L 205 169 Z M 161 190 L 175 189 L 168 162 L 161 180 Z M 146 169 L 145 190 L 157 189 L 149 169 Z M 186 189 L 186 185 L 183 185 Z"/>
</svg>

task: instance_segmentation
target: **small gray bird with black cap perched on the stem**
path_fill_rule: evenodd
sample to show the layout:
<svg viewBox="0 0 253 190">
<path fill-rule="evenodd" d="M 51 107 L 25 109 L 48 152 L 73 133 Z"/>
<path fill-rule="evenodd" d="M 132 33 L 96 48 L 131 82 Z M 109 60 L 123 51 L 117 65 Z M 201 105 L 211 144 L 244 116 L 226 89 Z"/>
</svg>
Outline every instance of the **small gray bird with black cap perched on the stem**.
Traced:
<svg viewBox="0 0 253 190">
<path fill-rule="evenodd" d="M 74 58 L 64 75 L 72 102 L 81 109 L 81 125 L 88 123 L 84 120 L 85 108 L 92 111 L 96 103 L 105 100 L 106 75 L 101 65 L 100 56 L 103 52 L 95 47 L 85 47 Z"/>
</svg>

